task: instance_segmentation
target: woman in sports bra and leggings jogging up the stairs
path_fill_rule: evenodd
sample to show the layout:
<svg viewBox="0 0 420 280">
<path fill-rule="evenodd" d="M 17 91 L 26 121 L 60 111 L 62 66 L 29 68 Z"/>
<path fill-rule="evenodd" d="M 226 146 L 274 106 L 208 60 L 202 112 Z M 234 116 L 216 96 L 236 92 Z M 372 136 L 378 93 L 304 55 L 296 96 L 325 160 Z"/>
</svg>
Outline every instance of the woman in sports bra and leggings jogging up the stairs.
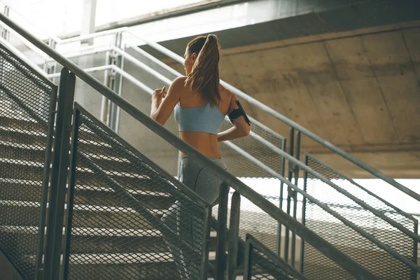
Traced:
<svg viewBox="0 0 420 280">
<path fill-rule="evenodd" d="M 175 109 L 175 119 L 179 123 L 179 137 L 216 165 L 226 169 L 218 149 L 218 142 L 245 137 L 249 134 L 251 123 L 235 95 L 219 83 L 218 62 L 219 45 L 215 35 L 199 36 L 190 41 L 185 52 L 186 76 L 176 78 L 167 92 L 165 87 L 153 92 L 151 118 L 165 125 Z M 218 133 L 226 115 L 230 117 L 234 126 Z M 180 180 L 209 204 L 216 204 L 218 189 L 222 182 L 207 172 L 196 160 L 183 153 L 181 153 Z M 188 244 L 192 244 L 194 250 L 200 253 L 201 237 L 191 236 L 194 225 L 186 223 L 193 219 L 188 217 L 190 214 L 183 213 L 186 211 L 182 211 L 182 208 L 179 203 L 174 204 L 163 221 L 176 223 L 176 231 L 180 237 Z M 190 232 L 185 230 L 180 232 L 180 228 L 188 228 Z M 200 267 L 197 262 L 186 261 L 182 250 L 167 239 L 165 241 L 183 279 L 198 279 Z"/>
</svg>

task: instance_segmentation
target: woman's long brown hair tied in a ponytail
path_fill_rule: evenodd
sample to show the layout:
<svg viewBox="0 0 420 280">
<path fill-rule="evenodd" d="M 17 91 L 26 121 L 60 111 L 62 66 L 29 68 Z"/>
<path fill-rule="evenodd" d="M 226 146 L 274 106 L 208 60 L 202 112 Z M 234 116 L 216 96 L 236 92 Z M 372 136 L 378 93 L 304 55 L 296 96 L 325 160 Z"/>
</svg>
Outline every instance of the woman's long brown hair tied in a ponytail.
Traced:
<svg viewBox="0 0 420 280">
<path fill-rule="evenodd" d="M 210 104 L 221 100 L 219 92 L 219 44 L 216 35 L 199 36 L 187 45 L 188 55 L 197 54 L 193 69 L 186 79 L 186 87 L 197 92 Z"/>
</svg>

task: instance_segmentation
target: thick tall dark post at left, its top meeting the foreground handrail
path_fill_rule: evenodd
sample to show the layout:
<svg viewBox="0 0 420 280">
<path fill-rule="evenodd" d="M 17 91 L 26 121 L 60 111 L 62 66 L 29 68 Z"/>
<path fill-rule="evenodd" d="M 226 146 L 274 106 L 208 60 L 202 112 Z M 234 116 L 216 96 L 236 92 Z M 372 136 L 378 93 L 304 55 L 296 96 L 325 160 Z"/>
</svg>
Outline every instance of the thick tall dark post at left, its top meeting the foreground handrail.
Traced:
<svg viewBox="0 0 420 280">
<path fill-rule="evenodd" d="M 58 279 L 59 276 L 64 220 L 64 198 L 66 192 L 67 169 L 69 167 L 71 115 L 76 82 L 76 76 L 74 76 L 73 73 L 69 73 L 67 69 L 62 69 L 61 73 L 48 209 L 45 280 L 55 280 Z"/>
</svg>

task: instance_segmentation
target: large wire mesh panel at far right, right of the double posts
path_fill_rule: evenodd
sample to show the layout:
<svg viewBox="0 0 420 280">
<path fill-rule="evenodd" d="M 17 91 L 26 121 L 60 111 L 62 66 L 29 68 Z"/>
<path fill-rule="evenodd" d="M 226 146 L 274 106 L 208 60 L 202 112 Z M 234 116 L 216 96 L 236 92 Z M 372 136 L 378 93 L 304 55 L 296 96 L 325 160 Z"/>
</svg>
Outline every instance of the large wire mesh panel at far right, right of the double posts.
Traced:
<svg viewBox="0 0 420 280">
<path fill-rule="evenodd" d="M 414 219 L 397 209 L 388 206 L 358 186 L 346 179 L 342 174 L 335 172 L 323 162 L 311 155 L 305 155 L 308 167 L 322 174 L 339 188 L 355 195 L 363 202 L 370 204 L 393 221 L 399 223 L 410 231 L 415 232 Z M 371 211 L 351 200 L 346 195 L 323 183 L 316 176 L 306 174 L 305 188 L 309 195 L 327 205 L 339 215 L 354 223 L 358 228 L 372 235 L 375 239 L 393 248 L 400 255 L 412 260 L 415 255 L 414 241 L 411 237 L 397 228 L 375 216 Z M 356 260 L 360 265 L 374 272 L 382 279 L 412 279 L 413 272 L 400 260 L 396 260 L 389 253 L 362 237 L 358 232 L 344 225 L 321 207 L 304 200 L 304 225 L 316 232 L 341 251 Z M 324 267 L 331 267 L 331 261 L 319 258 L 314 249 L 304 244 L 303 272 L 309 279 L 339 279 L 335 273 L 325 275 Z"/>
</svg>

